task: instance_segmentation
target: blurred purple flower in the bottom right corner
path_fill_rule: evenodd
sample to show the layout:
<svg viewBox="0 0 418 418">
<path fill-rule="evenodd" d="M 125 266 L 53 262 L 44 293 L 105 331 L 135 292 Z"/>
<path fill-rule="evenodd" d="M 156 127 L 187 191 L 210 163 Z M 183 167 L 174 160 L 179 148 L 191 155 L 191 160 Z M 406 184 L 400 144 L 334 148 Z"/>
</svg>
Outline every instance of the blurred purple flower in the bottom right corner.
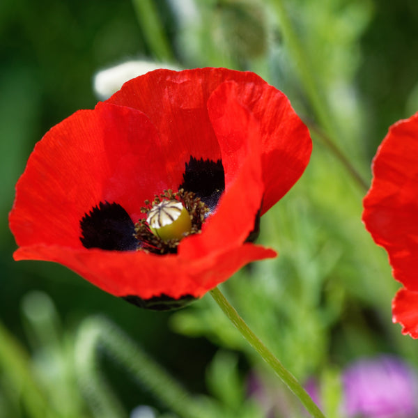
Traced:
<svg viewBox="0 0 418 418">
<path fill-rule="evenodd" d="M 361 359 L 343 372 L 343 412 L 347 417 L 417 417 L 418 377 L 404 362 L 382 355 Z"/>
</svg>

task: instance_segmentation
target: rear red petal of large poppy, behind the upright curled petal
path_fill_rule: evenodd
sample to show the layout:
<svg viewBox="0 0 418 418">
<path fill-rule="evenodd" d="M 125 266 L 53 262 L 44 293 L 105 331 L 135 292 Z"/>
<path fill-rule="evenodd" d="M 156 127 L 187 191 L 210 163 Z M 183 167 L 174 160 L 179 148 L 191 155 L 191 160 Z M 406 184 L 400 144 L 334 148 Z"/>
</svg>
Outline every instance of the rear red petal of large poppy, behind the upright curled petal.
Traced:
<svg viewBox="0 0 418 418">
<path fill-rule="evenodd" d="M 309 131 L 283 93 L 252 72 L 197 68 L 148 72 L 125 83 L 108 101 L 143 111 L 157 127 L 163 144 L 167 144 L 164 148 L 176 149 L 184 167 L 190 155 L 219 159 L 206 102 L 217 86 L 227 81 L 237 83 L 240 103 L 261 126 L 263 214 L 302 176 L 311 155 Z M 160 102 L 150 98 L 159 98 Z"/>
</svg>

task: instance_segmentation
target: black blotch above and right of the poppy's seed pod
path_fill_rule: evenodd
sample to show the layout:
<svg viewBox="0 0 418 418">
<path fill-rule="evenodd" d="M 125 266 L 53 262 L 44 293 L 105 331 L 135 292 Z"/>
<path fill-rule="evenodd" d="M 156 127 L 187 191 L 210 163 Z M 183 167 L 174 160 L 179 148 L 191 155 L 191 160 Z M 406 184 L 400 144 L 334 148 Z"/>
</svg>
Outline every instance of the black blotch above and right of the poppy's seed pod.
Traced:
<svg viewBox="0 0 418 418">
<path fill-rule="evenodd" d="M 183 188 L 187 192 L 194 192 L 203 203 L 206 203 L 210 210 L 214 210 L 225 190 L 225 173 L 222 160 L 215 162 L 190 157 L 185 166 L 183 183 L 178 188 Z"/>
</svg>

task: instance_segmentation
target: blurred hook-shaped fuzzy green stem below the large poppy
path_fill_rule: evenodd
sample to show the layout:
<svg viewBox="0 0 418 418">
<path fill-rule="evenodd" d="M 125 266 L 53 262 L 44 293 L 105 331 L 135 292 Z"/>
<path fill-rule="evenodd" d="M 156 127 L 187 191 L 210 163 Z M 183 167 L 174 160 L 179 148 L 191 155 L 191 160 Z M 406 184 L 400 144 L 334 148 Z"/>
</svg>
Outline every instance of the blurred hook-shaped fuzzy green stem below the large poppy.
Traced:
<svg viewBox="0 0 418 418">
<path fill-rule="evenodd" d="M 97 316 L 82 323 L 76 341 L 77 375 L 97 417 L 126 417 L 126 412 L 98 372 L 98 348 L 121 364 L 141 385 L 180 417 L 206 416 L 196 399 L 144 353 L 141 347 L 109 320 Z"/>
</svg>

